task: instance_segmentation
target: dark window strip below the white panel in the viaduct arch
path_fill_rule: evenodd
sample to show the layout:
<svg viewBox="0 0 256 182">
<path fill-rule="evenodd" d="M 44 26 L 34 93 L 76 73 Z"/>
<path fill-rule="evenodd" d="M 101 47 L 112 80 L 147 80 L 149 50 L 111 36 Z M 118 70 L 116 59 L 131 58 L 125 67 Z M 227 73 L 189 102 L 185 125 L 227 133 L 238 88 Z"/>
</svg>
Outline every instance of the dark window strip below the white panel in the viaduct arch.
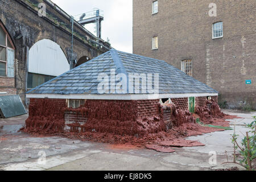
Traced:
<svg viewBox="0 0 256 182">
<path fill-rule="evenodd" d="M 37 73 L 28 73 L 27 75 L 27 88 L 32 89 L 36 86 L 42 85 L 45 82 L 52 80 L 55 76 L 40 75 Z"/>
</svg>

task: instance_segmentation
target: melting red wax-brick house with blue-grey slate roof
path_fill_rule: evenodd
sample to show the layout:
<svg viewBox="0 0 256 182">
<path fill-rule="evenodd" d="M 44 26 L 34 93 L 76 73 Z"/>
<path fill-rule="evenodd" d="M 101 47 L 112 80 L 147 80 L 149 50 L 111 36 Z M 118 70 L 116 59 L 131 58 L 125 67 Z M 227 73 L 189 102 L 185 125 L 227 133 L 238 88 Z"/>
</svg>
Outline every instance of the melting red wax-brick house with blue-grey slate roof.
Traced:
<svg viewBox="0 0 256 182">
<path fill-rule="evenodd" d="M 172 102 L 191 113 L 218 92 L 163 60 L 111 49 L 27 93 L 26 128 L 144 135 L 166 129 Z"/>
</svg>

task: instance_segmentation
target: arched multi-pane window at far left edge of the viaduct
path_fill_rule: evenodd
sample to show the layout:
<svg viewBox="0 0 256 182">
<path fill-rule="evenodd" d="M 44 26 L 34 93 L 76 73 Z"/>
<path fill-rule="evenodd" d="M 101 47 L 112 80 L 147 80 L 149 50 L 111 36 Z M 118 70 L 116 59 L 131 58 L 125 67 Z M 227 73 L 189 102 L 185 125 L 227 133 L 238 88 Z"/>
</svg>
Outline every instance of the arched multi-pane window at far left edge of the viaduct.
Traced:
<svg viewBox="0 0 256 182">
<path fill-rule="evenodd" d="M 14 45 L 0 23 L 0 76 L 14 77 Z"/>
</svg>

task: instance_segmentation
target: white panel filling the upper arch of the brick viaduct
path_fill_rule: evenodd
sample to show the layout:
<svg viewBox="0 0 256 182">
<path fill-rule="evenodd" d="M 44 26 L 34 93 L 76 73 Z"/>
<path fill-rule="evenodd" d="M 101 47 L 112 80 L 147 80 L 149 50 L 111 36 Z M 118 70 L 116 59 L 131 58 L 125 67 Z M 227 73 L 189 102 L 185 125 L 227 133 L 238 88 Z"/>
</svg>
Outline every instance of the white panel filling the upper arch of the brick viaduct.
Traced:
<svg viewBox="0 0 256 182">
<path fill-rule="evenodd" d="M 68 70 L 67 57 L 60 46 L 52 40 L 39 40 L 30 48 L 28 72 L 59 76 Z"/>
</svg>

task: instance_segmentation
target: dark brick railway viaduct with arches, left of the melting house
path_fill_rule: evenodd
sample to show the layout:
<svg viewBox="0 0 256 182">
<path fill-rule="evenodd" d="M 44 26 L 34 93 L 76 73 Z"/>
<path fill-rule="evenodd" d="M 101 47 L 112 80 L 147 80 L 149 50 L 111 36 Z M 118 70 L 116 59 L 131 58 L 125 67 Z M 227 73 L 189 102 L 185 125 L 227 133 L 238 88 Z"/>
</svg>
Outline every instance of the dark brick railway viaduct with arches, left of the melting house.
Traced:
<svg viewBox="0 0 256 182">
<path fill-rule="evenodd" d="M 39 14 L 42 4 L 45 16 Z M 49 0 L 0 1 L 0 96 L 26 92 L 110 49 Z"/>
</svg>

